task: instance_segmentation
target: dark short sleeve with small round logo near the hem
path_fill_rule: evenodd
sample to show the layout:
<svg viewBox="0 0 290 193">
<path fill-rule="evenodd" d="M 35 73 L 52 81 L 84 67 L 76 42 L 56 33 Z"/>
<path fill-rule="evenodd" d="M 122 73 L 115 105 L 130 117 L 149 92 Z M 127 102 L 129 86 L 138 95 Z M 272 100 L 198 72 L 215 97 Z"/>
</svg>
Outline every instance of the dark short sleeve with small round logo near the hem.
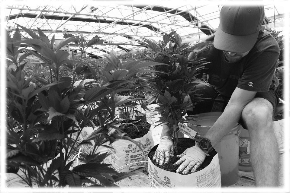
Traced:
<svg viewBox="0 0 290 193">
<path fill-rule="evenodd" d="M 256 92 L 269 91 L 278 57 L 277 52 L 263 52 L 256 59 L 247 62 L 237 87 Z"/>
</svg>

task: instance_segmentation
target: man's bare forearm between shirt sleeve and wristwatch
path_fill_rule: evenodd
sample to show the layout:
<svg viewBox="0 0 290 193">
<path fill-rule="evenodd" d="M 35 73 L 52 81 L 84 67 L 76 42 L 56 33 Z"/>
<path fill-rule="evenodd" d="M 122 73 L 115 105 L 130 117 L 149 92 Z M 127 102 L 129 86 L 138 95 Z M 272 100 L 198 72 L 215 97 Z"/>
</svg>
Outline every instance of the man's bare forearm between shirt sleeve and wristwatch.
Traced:
<svg viewBox="0 0 290 193">
<path fill-rule="evenodd" d="M 221 140 L 239 121 L 245 106 L 254 98 L 256 91 L 236 88 L 230 97 L 226 108 L 214 125 L 204 135 L 214 146 Z"/>
</svg>

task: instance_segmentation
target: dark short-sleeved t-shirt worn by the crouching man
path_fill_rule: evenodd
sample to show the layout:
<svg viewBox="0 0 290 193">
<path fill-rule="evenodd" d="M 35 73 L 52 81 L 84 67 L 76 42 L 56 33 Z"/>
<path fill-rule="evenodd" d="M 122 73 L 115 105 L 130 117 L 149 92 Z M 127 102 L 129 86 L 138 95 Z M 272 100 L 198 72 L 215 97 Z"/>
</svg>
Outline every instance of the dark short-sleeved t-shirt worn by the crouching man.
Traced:
<svg viewBox="0 0 290 193">
<path fill-rule="evenodd" d="M 250 52 L 238 62 L 227 62 L 222 50 L 214 48 L 214 35 L 208 41 L 193 47 L 189 59 L 205 58 L 208 83 L 222 95 L 230 97 L 235 88 L 265 92 L 276 90 L 278 79 L 275 76 L 279 57 L 279 46 L 275 38 L 264 31 Z"/>
</svg>

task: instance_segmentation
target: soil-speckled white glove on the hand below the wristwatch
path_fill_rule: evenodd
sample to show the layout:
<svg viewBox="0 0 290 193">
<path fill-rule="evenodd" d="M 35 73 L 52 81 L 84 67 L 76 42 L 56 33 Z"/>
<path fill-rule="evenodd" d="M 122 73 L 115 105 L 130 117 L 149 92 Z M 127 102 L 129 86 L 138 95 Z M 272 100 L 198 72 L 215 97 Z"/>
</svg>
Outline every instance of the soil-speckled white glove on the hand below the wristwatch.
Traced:
<svg viewBox="0 0 290 193">
<path fill-rule="evenodd" d="M 205 156 L 205 152 L 195 143 L 195 146 L 189 147 L 182 154 L 177 155 L 177 157 L 181 158 L 173 165 L 181 165 L 176 169 L 176 173 L 182 172 L 182 174 L 185 175 L 189 171 L 192 173 L 195 172 L 205 160 Z"/>
</svg>

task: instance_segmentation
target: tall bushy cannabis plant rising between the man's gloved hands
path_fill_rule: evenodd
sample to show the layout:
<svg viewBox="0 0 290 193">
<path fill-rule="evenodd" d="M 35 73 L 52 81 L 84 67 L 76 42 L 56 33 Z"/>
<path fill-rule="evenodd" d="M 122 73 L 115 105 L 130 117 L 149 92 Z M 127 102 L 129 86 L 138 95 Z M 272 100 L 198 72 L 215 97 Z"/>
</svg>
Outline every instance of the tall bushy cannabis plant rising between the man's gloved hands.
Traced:
<svg viewBox="0 0 290 193">
<path fill-rule="evenodd" d="M 154 111 L 161 115 L 157 123 L 166 123 L 172 134 L 172 142 L 177 153 L 178 126 L 179 122 L 186 123 L 186 111 L 193 107 L 193 103 L 201 100 L 196 94 L 195 86 L 199 83 L 196 76 L 203 64 L 202 60 L 190 61 L 187 56 L 190 52 L 189 44 L 182 43 L 181 37 L 173 31 L 163 36 L 159 43 L 143 39 L 143 42 L 152 49 L 154 55 L 147 57 L 148 60 L 164 63 L 166 65 L 154 66 L 154 73 L 150 80 L 151 97 L 149 103 L 157 101 Z M 194 96 L 193 103 L 184 102 L 188 95 Z M 157 126 L 158 126 L 157 125 Z"/>
</svg>

